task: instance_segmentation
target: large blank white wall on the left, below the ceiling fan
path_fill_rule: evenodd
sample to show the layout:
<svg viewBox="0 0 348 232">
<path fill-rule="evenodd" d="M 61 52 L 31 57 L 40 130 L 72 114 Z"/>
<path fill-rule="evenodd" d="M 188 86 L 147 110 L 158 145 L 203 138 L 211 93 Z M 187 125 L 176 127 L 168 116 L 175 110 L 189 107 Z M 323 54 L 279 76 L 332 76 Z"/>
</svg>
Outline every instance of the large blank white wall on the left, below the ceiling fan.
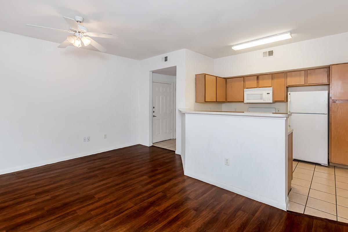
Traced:
<svg viewBox="0 0 348 232">
<path fill-rule="evenodd" d="M 0 31 L 0 174 L 139 143 L 140 61 L 57 46 Z"/>
</svg>

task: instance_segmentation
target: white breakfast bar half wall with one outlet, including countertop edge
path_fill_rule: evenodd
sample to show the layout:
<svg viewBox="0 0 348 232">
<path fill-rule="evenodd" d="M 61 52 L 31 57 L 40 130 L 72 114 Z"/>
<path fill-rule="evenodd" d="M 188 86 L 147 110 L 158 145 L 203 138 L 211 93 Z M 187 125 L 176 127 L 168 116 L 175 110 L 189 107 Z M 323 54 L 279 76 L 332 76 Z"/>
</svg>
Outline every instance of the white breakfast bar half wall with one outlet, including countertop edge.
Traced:
<svg viewBox="0 0 348 232">
<path fill-rule="evenodd" d="M 180 111 L 185 175 L 287 209 L 288 113 Z"/>
</svg>

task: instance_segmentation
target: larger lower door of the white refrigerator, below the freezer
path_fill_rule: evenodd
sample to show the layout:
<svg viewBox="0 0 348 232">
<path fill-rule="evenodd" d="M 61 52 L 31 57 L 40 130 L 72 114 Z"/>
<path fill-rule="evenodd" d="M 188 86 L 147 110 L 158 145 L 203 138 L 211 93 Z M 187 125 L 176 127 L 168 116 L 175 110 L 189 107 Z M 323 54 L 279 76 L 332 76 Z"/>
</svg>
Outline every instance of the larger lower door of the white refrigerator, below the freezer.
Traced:
<svg viewBox="0 0 348 232">
<path fill-rule="evenodd" d="M 327 114 L 293 113 L 293 158 L 327 165 Z"/>
</svg>

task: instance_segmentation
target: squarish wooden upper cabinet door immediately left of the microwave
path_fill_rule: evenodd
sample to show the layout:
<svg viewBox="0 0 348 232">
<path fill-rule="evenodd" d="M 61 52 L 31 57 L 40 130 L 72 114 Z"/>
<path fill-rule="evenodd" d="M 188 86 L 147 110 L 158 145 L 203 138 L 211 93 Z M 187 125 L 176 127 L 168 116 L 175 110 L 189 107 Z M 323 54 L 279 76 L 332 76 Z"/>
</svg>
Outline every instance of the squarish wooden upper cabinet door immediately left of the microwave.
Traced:
<svg viewBox="0 0 348 232">
<path fill-rule="evenodd" d="M 243 77 L 227 79 L 226 98 L 228 102 L 243 102 L 244 101 Z"/>
</svg>

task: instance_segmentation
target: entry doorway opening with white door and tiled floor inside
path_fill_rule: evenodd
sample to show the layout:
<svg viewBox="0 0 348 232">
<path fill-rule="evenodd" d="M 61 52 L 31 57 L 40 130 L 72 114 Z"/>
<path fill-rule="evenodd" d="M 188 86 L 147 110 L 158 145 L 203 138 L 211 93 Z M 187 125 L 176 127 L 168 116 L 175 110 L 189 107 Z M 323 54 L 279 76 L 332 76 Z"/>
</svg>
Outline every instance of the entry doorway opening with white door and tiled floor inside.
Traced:
<svg viewBox="0 0 348 232">
<path fill-rule="evenodd" d="M 152 71 L 152 144 L 175 151 L 176 66 Z"/>
</svg>

